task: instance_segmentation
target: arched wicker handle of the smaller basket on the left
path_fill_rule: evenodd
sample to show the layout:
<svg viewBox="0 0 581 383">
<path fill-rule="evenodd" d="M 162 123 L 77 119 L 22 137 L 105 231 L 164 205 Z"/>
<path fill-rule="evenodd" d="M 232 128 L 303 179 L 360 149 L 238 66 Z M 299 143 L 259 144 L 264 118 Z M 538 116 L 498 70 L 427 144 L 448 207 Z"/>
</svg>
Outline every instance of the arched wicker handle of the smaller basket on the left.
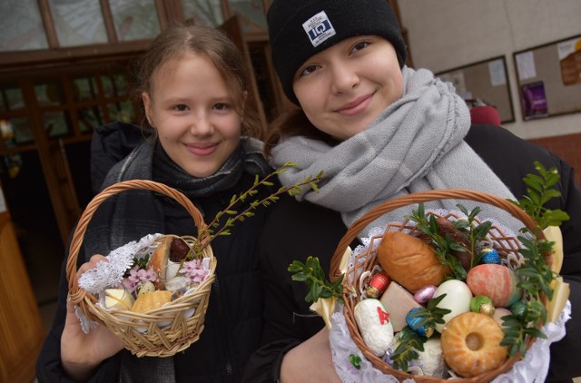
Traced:
<svg viewBox="0 0 581 383">
<path fill-rule="evenodd" d="M 94 196 L 94 199 L 87 204 L 87 207 L 84 209 L 79 222 L 77 223 L 76 229 L 73 233 L 73 238 L 71 240 L 71 246 L 69 248 L 69 257 L 66 260 L 66 275 L 69 280 L 69 293 L 71 296 L 71 300 L 74 303 L 79 303 L 80 301 L 84 300 L 86 295 L 91 297 L 91 300 L 96 301 L 96 299 L 89 294 L 87 291 L 80 289 L 78 280 L 76 278 L 76 261 L 81 250 L 81 244 L 83 243 L 84 232 L 89 225 L 89 221 L 93 218 L 94 212 L 97 208 L 103 203 L 103 201 L 107 200 L 109 197 L 117 194 L 121 191 L 129 191 L 133 189 L 145 189 L 150 191 L 157 191 L 171 197 L 178 203 L 180 203 L 186 211 L 190 213 L 193 218 L 193 221 L 198 228 L 198 231 L 201 231 L 207 227 L 206 223 L 203 221 L 202 213 L 196 209 L 193 205 L 192 201 L 190 201 L 181 191 L 176 191 L 171 187 L 164 185 L 160 182 L 153 182 L 149 180 L 129 180 L 123 182 L 117 182 L 113 185 L 103 189 L 99 194 Z"/>
</svg>

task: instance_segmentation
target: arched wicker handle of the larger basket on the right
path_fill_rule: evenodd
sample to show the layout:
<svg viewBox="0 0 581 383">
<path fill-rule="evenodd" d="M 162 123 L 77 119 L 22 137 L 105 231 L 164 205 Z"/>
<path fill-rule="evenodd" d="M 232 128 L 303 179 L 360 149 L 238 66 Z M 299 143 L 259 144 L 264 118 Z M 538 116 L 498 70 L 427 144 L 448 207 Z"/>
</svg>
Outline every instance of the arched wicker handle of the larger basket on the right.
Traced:
<svg viewBox="0 0 581 383">
<path fill-rule="evenodd" d="M 495 194 L 490 194 L 484 191 L 472 191 L 467 189 L 442 189 L 433 191 L 420 191 L 417 193 L 408 194 L 403 197 L 383 202 L 382 204 L 365 213 L 361 218 L 359 218 L 359 220 L 353 222 L 349 230 L 345 233 L 339 242 L 337 250 L 335 250 L 333 257 L 330 260 L 330 280 L 337 280 L 340 278 L 340 261 L 343 257 L 345 249 L 347 249 L 351 242 L 355 240 L 359 232 L 365 229 L 369 223 L 377 220 L 381 215 L 388 213 L 389 211 L 394 211 L 410 204 L 447 199 L 471 200 L 487 203 L 489 205 L 493 205 L 497 208 L 508 211 L 513 217 L 517 218 L 517 220 L 523 222 L 530 231 L 535 232 L 535 229 L 537 228 L 537 222 L 517 205 L 507 201 L 504 198 L 498 197 Z M 542 231 L 538 231 L 537 236 L 540 239 L 545 238 Z M 549 257 L 550 255 L 546 255 L 546 260 Z M 549 263 L 549 260 L 547 260 L 547 263 Z"/>
</svg>

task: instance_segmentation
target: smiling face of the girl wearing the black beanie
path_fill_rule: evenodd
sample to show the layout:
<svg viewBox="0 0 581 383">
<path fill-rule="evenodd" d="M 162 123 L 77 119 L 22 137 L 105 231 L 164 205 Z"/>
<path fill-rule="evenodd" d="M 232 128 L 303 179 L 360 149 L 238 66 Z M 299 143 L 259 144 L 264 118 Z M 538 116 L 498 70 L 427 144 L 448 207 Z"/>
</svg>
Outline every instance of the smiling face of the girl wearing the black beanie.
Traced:
<svg viewBox="0 0 581 383">
<path fill-rule="evenodd" d="M 403 76 L 392 44 L 379 36 L 357 36 L 300 65 L 293 90 L 310 123 L 346 140 L 402 96 Z"/>
</svg>

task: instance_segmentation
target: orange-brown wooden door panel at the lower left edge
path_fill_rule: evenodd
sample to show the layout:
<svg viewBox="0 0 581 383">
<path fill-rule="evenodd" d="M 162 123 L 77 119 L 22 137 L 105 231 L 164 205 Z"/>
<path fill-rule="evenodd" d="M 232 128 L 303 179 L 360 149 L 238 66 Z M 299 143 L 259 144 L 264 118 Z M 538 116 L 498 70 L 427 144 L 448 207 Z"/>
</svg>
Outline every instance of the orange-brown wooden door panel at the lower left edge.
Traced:
<svg viewBox="0 0 581 383">
<path fill-rule="evenodd" d="M 0 381 L 31 382 L 43 321 L 0 184 Z"/>
</svg>

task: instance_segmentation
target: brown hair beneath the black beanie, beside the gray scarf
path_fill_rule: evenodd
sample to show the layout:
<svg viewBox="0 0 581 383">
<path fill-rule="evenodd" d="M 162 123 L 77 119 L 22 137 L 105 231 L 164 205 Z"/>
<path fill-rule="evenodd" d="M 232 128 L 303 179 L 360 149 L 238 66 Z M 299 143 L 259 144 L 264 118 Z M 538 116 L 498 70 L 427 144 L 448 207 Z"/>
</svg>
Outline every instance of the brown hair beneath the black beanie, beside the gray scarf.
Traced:
<svg viewBox="0 0 581 383">
<path fill-rule="evenodd" d="M 281 139 L 300 135 L 327 143 L 336 142 L 330 134 L 321 132 L 310 123 L 307 115 L 299 107 L 282 112 L 270 124 L 269 133 L 264 140 L 264 154 L 271 155 L 271 150 Z"/>
</svg>

